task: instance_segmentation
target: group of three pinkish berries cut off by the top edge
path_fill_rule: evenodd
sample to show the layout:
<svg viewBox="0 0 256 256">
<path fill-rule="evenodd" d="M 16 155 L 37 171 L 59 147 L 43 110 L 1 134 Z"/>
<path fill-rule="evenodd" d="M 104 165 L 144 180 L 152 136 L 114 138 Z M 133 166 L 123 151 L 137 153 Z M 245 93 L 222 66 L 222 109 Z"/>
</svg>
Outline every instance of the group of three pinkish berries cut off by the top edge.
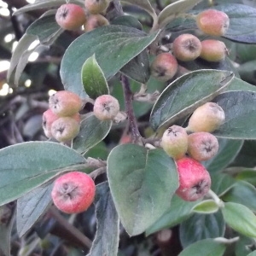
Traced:
<svg viewBox="0 0 256 256">
<path fill-rule="evenodd" d="M 63 29 L 73 31 L 84 26 L 84 31 L 90 32 L 98 26 L 109 24 L 103 16 L 108 5 L 108 0 L 85 0 L 84 9 L 74 3 L 62 4 L 57 9 L 55 20 Z"/>
</svg>

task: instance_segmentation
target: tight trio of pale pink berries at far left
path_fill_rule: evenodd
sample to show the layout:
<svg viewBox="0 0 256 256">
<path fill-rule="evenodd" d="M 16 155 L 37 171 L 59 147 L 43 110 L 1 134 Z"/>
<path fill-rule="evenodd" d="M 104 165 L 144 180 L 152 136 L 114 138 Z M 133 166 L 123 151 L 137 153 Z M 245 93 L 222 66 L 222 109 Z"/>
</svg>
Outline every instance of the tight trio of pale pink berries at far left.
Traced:
<svg viewBox="0 0 256 256">
<path fill-rule="evenodd" d="M 60 90 L 49 96 L 49 109 L 43 113 L 43 128 L 46 137 L 54 137 L 66 143 L 79 134 L 79 110 L 83 101 L 75 93 Z"/>
</svg>

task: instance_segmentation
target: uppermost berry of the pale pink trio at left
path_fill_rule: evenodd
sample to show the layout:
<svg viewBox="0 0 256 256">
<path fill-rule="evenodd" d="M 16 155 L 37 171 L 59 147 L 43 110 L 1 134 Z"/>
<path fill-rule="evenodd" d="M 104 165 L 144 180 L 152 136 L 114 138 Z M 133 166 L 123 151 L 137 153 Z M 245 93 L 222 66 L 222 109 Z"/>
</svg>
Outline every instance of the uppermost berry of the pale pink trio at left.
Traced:
<svg viewBox="0 0 256 256">
<path fill-rule="evenodd" d="M 60 117 L 73 116 L 82 106 L 81 98 L 72 91 L 60 90 L 49 96 L 49 108 Z"/>
</svg>

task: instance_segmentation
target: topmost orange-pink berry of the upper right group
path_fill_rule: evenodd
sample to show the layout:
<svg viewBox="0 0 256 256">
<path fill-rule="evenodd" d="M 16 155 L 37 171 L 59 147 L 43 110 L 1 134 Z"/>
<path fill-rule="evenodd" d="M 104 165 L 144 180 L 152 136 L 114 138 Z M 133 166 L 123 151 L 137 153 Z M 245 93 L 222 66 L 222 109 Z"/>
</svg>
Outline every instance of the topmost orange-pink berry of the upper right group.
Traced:
<svg viewBox="0 0 256 256">
<path fill-rule="evenodd" d="M 230 26 L 230 18 L 222 11 L 207 9 L 196 15 L 198 28 L 211 36 L 223 36 Z"/>
</svg>

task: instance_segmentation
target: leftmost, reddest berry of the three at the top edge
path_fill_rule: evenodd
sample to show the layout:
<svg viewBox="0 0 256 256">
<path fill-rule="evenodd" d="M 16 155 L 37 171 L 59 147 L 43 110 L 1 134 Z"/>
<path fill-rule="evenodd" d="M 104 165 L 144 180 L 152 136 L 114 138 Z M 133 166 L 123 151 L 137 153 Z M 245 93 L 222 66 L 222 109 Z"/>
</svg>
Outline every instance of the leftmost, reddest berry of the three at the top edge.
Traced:
<svg viewBox="0 0 256 256">
<path fill-rule="evenodd" d="M 64 29 L 77 30 L 84 24 L 86 15 L 79 5 L 67 3 L 57 9 L 55 20 Z"/>
</svg>

